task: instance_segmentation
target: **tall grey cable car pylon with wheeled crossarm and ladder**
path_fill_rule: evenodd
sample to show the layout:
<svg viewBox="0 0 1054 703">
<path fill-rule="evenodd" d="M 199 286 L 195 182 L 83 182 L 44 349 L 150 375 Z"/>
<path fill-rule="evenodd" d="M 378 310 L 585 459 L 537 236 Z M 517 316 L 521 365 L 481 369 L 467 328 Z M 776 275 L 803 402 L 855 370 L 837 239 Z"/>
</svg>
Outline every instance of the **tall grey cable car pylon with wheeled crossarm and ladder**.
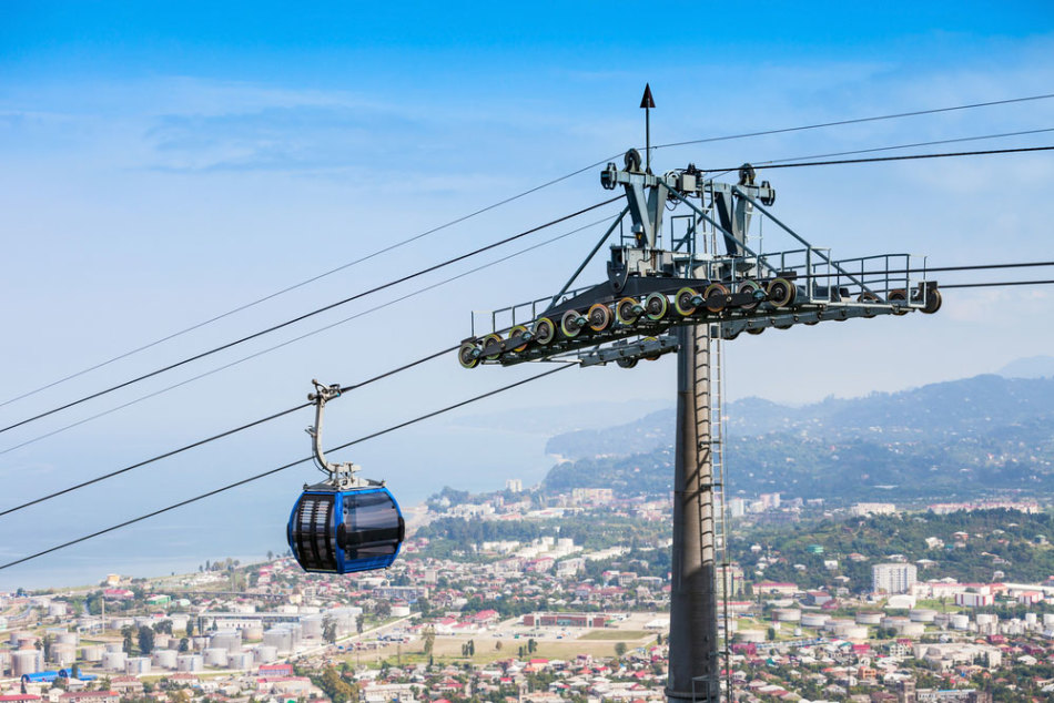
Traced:
<svg viewBox="0 0 1054 703">
<path fill-rule="evenodd" d="M 555 296 L 494 310 L 489 319 L 474 315 L 458 361 L 465 368 L 525 361 L 632 368 L 677 352 L 666 695 L 718 703 L 712 339 L 832 319 L 932 314 L 941 294 L 924 273 L 913 277 L 925 271 L 925 258 L 921 265 L 910 254 L 834 259 L 830 249 L 810 244 L 770 212 L 776 190 L 759 183 L 750 164 L 739 169 L 738 182 L 722 183 L 693 164 L 656 175 L 642 162 L 630 149 L 622 167 L 608 163 L 600 172 L 604 189 L 622 189 L 626 207 L 570 281 Z M 670 215 L 665 227 L 667 211 L 678 208 L 682 214 Z M 571 289 L 616 232 L 607 281 Z M 726 700 L 731 695 L 727 690 Z"/>
</svg>

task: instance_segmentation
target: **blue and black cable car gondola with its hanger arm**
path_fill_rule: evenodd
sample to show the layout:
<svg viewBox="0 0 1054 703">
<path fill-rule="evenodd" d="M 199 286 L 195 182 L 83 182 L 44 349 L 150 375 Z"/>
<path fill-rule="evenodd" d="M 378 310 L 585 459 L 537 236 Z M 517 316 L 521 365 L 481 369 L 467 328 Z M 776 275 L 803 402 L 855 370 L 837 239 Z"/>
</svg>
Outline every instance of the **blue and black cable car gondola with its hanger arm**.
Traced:
<svg viewBox="0 0 1054 703">
<path fill-rule="evenodd" d="M 354 573 L 386 569 L 398 557 L 406 533 L 403 513 L 383 481 L 356 476 L 354 463 L 331 463 L 322 451 L 322 411 L 341 395 L 339 386 L 315 384 L 314 458 L 330 478 L 304 486 L 286 528 L 296 562 L 305 571 Z"/>
</svg>

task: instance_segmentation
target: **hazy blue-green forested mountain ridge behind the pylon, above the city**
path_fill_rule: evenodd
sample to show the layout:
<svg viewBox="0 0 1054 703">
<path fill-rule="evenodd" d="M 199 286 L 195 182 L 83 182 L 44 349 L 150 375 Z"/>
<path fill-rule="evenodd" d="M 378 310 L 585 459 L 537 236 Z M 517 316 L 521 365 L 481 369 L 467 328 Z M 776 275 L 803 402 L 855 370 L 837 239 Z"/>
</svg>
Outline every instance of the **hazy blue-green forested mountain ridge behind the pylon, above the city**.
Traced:
<svg viewBox="0 0 1054 703">
<path fill-rule="evenodd" d="M 1054 379 L 994 375 L 789 408 L 728 407 L 728 488 L 845 500 L 1054 490 Z M 554 437 L 546 487 L 670 489 L 673 412 Z"/>
</svg>

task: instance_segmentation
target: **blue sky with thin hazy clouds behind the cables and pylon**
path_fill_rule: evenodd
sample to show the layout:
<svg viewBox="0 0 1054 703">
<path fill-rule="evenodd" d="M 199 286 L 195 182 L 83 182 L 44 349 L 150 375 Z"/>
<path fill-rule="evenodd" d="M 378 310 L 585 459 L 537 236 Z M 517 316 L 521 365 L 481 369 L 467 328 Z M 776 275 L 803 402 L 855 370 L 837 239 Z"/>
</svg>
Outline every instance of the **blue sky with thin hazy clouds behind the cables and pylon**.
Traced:
<svg viewBox="0 0 1054 703">
<path fill-rule="evenodd" d="M 645 82 L 658 105 L 657 142 L 1051 93 L 1052 20 L 1046 2 L 808 10 L 759 3 L 722 11 L 611 2 L 295 10 L 260 2 L 3 3 L 0 299 L 8 340 L 0 401 L 619 154 L 642 139 L 637 104 Z M 656 164 L 719 166 L 1046 128 L 1054 128 L 1054 100 L 669 149 Z M 1051 143 L 1040 134 L 972 144 Z M 928 254 L 933 265 L 1054 258 L 1046 224 L 1054 217 L 1052 176 L 1052 157 L 1042 153 L 766 175 L 779 192 L 779 216 L 835 255 L 906 251 Z M 0 407 L 0 420 L 19 420 L 607 196 L 589 171 Z M 558 288 L 599 236 L 597 227 L 0 455 L 0 477 L 26 491 L 44 476 L 62 485 L 295 405 L 313 377 L 354 383 L 454 344 L 467 335 L 470 310 Z M 600 267 L 587 272 L 589 279 L 601 275 Z M 445 277 L 404 285 L 391 297 Z M 0 435 L 0 451 L 372 304 Z M 1051 304 L 1048 288 L 950 292 L 933 317 L 743 338 L 729 345 L 729 395 L 802 403 L 994 371 L 1014 358 L 1052 353 L 1054 333 L 1037 322 Z M 331 431 L 334 439 L 365 434 L 535 370 L 469 374 L 436 363 L 342 399 Z M 564 374 L 490 407 L 528 414 L 627 398 L 672 401 L 672 384 L 667 359 L 631 374 Z M 632 410 L 626 414 L 634 419 Z M 275 457 L 301 456 L 308 422 L 297 416 L 173 462 L 180 480 L 172 491 L 190 495 Z M 456 435 L 448 425 L 436 427 Z M 363 446 L 354 459 L 391 469 L 393 486 L 412 502 L 426 490 L 423 475 L 452 485 L 475 480 L 465 476 L 464 451 L 422 449 L 439 441 L 439 429 L 415 432 Z M 500 470 L 488 469 L 494 480 L 504 471 L 544 472 L 548 460 L 520 457 L 534 445 L 518 441 L 465 440 L 480 456 L 503 458 Z M 128 512 L 107 500 L 124 495 L 136 507 L 154 507 L 163 499 L 152 481 L 172 476 L 159 471 L 91 495 L 103 510 L 69 509 L 85 526 L 107 524 Z M 240 511 L 245 534 L 256 536 L 287 510 L 288 486 L 308 478 L 276 479 L 253 493 L 265 510 L 236 498 L 216 505 Z M 33 526 L 32 540 L 53 542 L 57 532 L 39 529 L 45 514 L 27 511 L 3 529 Z M 263 549 L 281 541 L 278 534 Z M 193 540 L 184 547 L 200 551 Z M 9 582 L 0 574 L 0 585 Z"/>
</svg>

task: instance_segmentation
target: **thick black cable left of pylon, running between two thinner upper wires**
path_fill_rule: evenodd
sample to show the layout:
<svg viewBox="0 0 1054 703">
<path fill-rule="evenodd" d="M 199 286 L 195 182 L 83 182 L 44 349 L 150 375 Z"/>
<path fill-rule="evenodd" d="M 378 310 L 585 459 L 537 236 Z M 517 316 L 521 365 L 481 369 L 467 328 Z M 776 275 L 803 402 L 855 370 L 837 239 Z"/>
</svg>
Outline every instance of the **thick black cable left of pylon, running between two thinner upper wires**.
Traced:
<svg viewBox="0 0 1054 703">
<path fill-rule="evenodd" d="M 536 233 L 536 232 L 539 232 L 540 230 L 545 230 L 546 227 L 551 227 L 553 225 L 559 224 L 559 223 L 561 223 L 561 222 L 566 222 L 567 220 L 570 220 L 570 218 L 572 218 L 572 217 L 577 217 L 577 216 L 582 215 L 582 214 L 585 214 L 585 213 L 587 213 L 587 212 L 594 211 L 594 210 L 596 210 L 596 208 L 598 208 L 598 207 L 602 207 L 604 205 L 609 205 L 609 204 L 611 204 L 611 203 L 614 203 L 614 202 L 616 202 L 616 201 L 618 201 L 618 200 L 621 200 L 621 196 L 617 196 L 617 197 L 612 197 L 612 198 L 607 200 L 607 201 L 602 201 L 602 202 L 597 203 L 597 204 L 595 204 L 595 205 L 590 205 L 589 207 L 585 207 L 585 208 L 582 208 L 582 210 L 579 210 L 579 211 L 577 211 L 577 212 L 574 212 L 574 213 L 571 213 L 571 214 L 569 214 L 569 215 L 564 215 L 563 217 L 557 217 L 556 220 L 551 220 L 551 221 L 549 221 L 549 222 L 547 222 L 547 223 L 545 223 L 545 224 L 538 225 L 538 226 L 536 226 L 536 227 L 531 227 L 530 230 L 526 230 L 526 231 L 520 232 L 520 233 L 518 233 L 518 234 L 514 234 L 514 235 L 508 236 L 508 237 L 505 237 L 505 238 L 503 238 L 503 240 L 498 240 L 497 242 L 493 242 L 493 243 L 487 244 L 487 245 L 485 245 L 485 246 L 480 246 L 480 247 L 475 248 L 475 249 L 473 249 L 473 251 L 470 251 L 470 252 L 466 252 L 465 254 L 460 254 L 460 255 L 455 256 L 455 257 L 453 257 L 453 258 L 448 258 L 448 259 L 446 259 L 446 261 L 444 261 L 444 262 L 440 262 L 440 263 L 438 263 L 438 264 L 433 264 L 433 265 L 430 265 L 430 266 L 427 266 L 427 267 L 425 267 L 425 268 L 422 268 L 422 269 L 419 269 L 419 271 L 416 271 L 416 272 L 414 272 L 414 273 L 412 273 L 412 274 L 407 274 L 407 275 L 405 275 L 405 276 L 401 276 L 401 277 L 395 278 L 395 279 L 393 279 L 393 281 L 389 281 L 389 282 L 387 282 L 387 283 L 381 284 L 381 285 L 378 285 L 378 286 L 374 286 L 373 288 L 369 288 L 369 289 L 367 289 L 367 291 L 363 291 L 363 292 L 361 292 L 361 293 L 356 293 L 355 295 L 352 295 L 352 296 L 349 296 L 349 297 L 346 297 L 346 298 L 344 298 L 344 299 L 342 299 L 342 300 L 337 300 L 337 302 L 335 302 L 335 303 L 331 303 L 331 304 L 328 304 L 328 305 L 324 305 L 324 306 L 322 306 L 322 307 L 320 307 L 320 308 L 315 308 L 315 309 L 313 309 L 313 310 L 311 310 L 311 312 L 308 312 L 308 313 L 304 313 L 304 314 L 298 315 L 298 316 L 296 316 L 296 317 L 294 317 L 294 318 L 292 318 L 292 319 L 287 319 L 287 320 L 283 322 L 283 323 L 278 323 L 277 325 L 272 325 L 271 327 L 266 327 L 266 328 L 264 328 L 264 329 L 261 329 L 261 330 L 259 330 L 259 332 L 252 333 L 252 334 L 250 334 L 250 335 L 245 335 L 245 336 L 240 337 L 239 339 L 235 339 L 235 340 L 233 340 L 233 342 L 229 342 L 229 343 L 222 344 L 222 345 L 220 345 L 220 346 L 217 346 L 217 347 L 213 347 L 213 348 L 211 348 L 211 349 L 209 349 L 209 350 L 206 350 L 206 352 L 202 352 L 202 353 L 200 353 L 200 354 L 195 354 L 195 355 L 193 355 L 193 356 L 186 357 L 186 358 L 184 358 L 184 359 L 182 359 L 182 360 L 180 360 L 180 361 L 175 361 L 174 364 L 169 364 L 168 366 L 163 366 L 163 367 L 161 367 L 161 368 L 159 368 L 159 369 L 155 369 L 155 370 L 152 370 L 152 371 L 150 371 L 150 373 L 148 373 L 148 374 L 142 374 L 142 375 L 140 375 L 140 376 L 136 376 L 135 378 L 132 378 L 132 379 L 122 381 L 122 383 L 120 383 L 120 384 L 110 386 L 109 388 L 104 388 L 104 389 L 102 389 L 102 390 L 99 390 L 99 391 L 89 394 L 89 395 L 87 395 L 87 396 L 83 396 L 83 397 L 81 397 L 81 398 L 78 398 L 77 400 L 67 403 L 67 404 L 64 404 L 64 405 L 60 405 L 60 406 L 58 406 L 58 407 L 51 408 L 50 410 L 45 410 L 45 411 L 43 411 L 43 412 L 39 412 L 39 414 L 37 414 L 37 415 L 32 416 L 32 417 L 26 418 L 26 419 L 23 419 L 23 420 L 19 420 L 18 422 L 13 422 L 13 424 L 11 424 L 11 425 L 8 425 L 7 427 L 0 428 L 0 434 L 7 432 L 7 431 L 9 431 L 9 430 L 12 430 L 12 429 L 14 429 L 14 428 L 17 428 L 17 427 L 21 427 L 21 426 L 23 426 L 23 425 L 28 425 L 29 422 L 33 422 L 33 421 L 39 420 L 39 419 L 41 419 L 41 418 L 48 417 L 48 416 L 50 416 L 50 415 L 54 415 L 55 412 L 60 412 L 60 411 L 62 411 L 62 410 L 67 410 L 67 409 L 69 409 L 69 408 L 72 408 L 72 407 L 74 407 L 74 406 L 78 406 L 78 405 L 80 405 L 80 404 L 82 404 L 82 403 L 87 403 L 87 401 L 89 401 L 89 400 L 93 400 L 93 399 L 95 399 L 95 398 L 102 397 L 102 396 L 108 395 L 108 394 L 110 394 L 110 393 L 113 393 L 113 391 L 115 391 L 115 390 L 120 390 L 121 388 L 126 388 L 126 387 L 129 387 L 129 386 L 131 386 L 131 385 L 133 385 L 133 384 L 140 383 L 140 381 L 142 381 L 142 380 L 146 380 L 148 378 L 153 378 L 154 376 L 159 376 L 159 375 L 161 375 L 161 374 L 164 374 L 165 371 L 170 371 L 170 370 L 172 370 L 172 369 L 174 369 L 174 368 L 179 368 L 179 367 L 184 366 L 184 365 L 186 365 L 186 364 L 190 364 L 190 363 L 192 363 L 192 361 L 196 361 L 196 360 L 199 360 L 199 359 L 205 358 L 205 357 L 211 356 L 211 355 L 213 355 L 213 354 L 217 354 L 219 352 L 223 352 L 223 350 L 225 350 L 225 349 L 230 349 L 230 348 L 232 348 L 232 347 L 234 347 L 234 346 L 237 346 L 237 345 L 240 345 L 240 344 L 244 344 L 245 342 L 250 342 L 250 340 L 252 340 L 252 339 L 256 339 L 257 337 L 262 337 L 262 336 L 264 336 L 264 335 L 271 334 L 271 333 L 276 332 L 276 330 L 278 330 L 278 329 L 283 329 L 283 328 L 285 328 L 285 327 L 288 327 L 290 325 L 293 325 L 293 324 L 298 323 L 298 322 L 303 322 L 304 319 L 307 319 L 307 318 L 310 318 L 310 317 L 314 317 L 315 315 L 320 315 L 320 314 L 322 314 L 322 313 L 324 313 L 324 312 L 327 312 L 327 310 L 331 310 L 331 309 L 333 309 L 333 308 L 335 308 L 335 307 L 339 307 L 339 306 L 342 306 L 342 305 L 346 305 L 347 303 L 351 303 L 351 302 L 353 302 L 353 300 L 357 300 L 357 299 L 363 298 L 363 297 L 365 297 L 365 296 L 367 296 L 367 295 L 372 295 L 372 294 L 374 294 L 374 293 L 378 293 L 378 292 L 381 292 L 381 291 L 384 291 L 385 288 L 389 288 L 389 287 L 395 286 L 395 285 L 398 285 L 398 284 L 401 284 L 401 283 L 405 283 L 405 282 L 407 282 L 407 281 L 412 281 L 413 278 L 417 278 L 418 276 L 423 276 L 423 275 L 425 275 L 425 274 L 432 273 L 432 272 L 434 272 L 434 271 L 438 271 L 438 269 L 440 269 L 440 268 L 444 268 L 444 267 L 449 266 L 449 265 L 452 265 L 452 264 L 455 264 L 455 263 L 457 263 L 457 262 L 464 261 L 464 259 L 466 259 L 466 258 L 470 258 L 470 257 L 476 256 L 476 255 L 478 255 L 478 254 L 482 254 L 482 253 L 484 253 L 484 252 L 488 252 L 488 251 L 490 251 L 490 249 L 493 249 L 493 248 L 496 248 L 496 247 L 498 247 L 498 246 L 503 246 L 503 245 L 505 245 L 505 244 L 508 244 L 509 242 L 514 242 L 514 241 L 519 240 L 519 238 L 521 238 L 521 237 L 525 237 L 525 236 L 527 236 L 527 235 L 530 235 L 530 234 L 534 234 L 534 233 Z"/>
</svg>

